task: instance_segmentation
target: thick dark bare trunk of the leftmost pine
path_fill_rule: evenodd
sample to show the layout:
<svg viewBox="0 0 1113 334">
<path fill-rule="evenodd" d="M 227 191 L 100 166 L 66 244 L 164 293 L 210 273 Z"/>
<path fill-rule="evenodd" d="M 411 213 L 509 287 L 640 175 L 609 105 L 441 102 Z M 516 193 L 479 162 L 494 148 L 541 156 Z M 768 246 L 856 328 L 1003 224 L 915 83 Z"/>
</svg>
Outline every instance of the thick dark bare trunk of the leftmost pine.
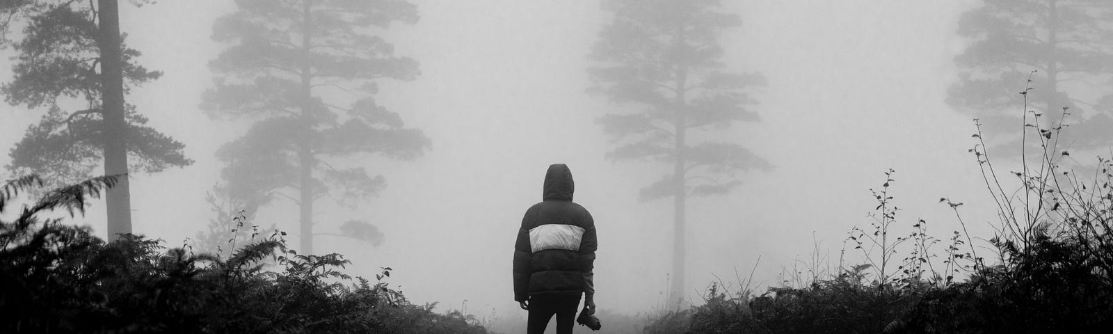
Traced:
<svg viewBox="0 0 1113 334">
<path fill-rule="evenodd" d="M 124 63 L 120 50 L 120 19 L 116 0 L 99 0 L 100 94 L 105 137 L 105 175 L 118 177 L 108 189 L 108 239 L 131 233 L 131 193 L 128 187 L 127 121 L 124 119 Z"/>
</svg>

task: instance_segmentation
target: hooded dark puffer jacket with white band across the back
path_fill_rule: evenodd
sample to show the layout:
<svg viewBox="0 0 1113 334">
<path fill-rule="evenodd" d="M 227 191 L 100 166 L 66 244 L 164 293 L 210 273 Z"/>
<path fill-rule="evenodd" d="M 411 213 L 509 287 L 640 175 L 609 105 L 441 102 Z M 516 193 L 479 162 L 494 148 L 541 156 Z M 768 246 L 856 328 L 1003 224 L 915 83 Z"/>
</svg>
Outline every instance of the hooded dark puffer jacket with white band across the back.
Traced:
<svg viewBox="0 0 1113 334">
<path fill-rule="evenodd" d="M 514 301 L 542 294 L 594 293 L 595 223 L 572 203 L 572 171 L 549 166 L 543 202 L 525 210 L 514 243 Z"/>
</svg>

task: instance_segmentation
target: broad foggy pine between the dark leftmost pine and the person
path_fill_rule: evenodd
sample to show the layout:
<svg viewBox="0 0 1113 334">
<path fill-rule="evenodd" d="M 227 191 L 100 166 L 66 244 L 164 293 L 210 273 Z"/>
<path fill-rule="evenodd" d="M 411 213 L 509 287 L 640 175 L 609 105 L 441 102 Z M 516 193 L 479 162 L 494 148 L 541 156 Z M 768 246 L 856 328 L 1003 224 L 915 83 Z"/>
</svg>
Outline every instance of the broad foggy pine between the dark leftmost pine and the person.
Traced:
<svg viewBox="0 0 1113 334">
<path fill-rule="evenodd" d="M 372 98 L 378 79 L 418 75 L 415 60 L 395 57 L 393 45 L 375 35 L 394 22 L 416 22 L 417 10 L 402 0 L 236 4 L 238 11 L 214 26 L 213 38 L 229 47 L 210 62 L 218 76 L 203 108 L 256 122 L 217 156 L 227 164 L 225 179 L 298 205 L 302 250 L 313 254 L 314 202 L 351 206 L 386 185 L 363 167 L 335 166 L 336 158 L 410 160 L 430 146 L 421 130 L 403 127 L 398 114 Z"/>
</svg>

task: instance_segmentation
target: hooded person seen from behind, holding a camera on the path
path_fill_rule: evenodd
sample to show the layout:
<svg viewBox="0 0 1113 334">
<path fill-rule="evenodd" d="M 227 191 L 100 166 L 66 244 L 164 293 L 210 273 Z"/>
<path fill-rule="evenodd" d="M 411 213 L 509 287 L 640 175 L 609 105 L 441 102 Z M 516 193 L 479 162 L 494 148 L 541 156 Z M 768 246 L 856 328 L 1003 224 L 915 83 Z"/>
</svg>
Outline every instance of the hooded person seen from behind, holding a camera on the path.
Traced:
<svg viewBox="0 0 1113 334">
<path fill-rule="evenodd" d="M 545 173 L 542 202 L 522 217 L 514 242 L 514 301 L 529 311 L 526 333 L 542 334 L 556 316 L 556 333 L 571 334 L 580 294 L 594 314 L 595 223 L 572 202 L 572 171 L 553 164 Z"/>
</svg>

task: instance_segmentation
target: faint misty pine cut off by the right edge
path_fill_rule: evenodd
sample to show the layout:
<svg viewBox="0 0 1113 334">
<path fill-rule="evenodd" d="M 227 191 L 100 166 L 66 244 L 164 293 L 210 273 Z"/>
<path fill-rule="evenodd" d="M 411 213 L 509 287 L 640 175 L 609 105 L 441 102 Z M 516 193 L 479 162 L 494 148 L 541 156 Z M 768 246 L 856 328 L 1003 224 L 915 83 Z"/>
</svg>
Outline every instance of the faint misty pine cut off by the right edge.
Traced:
<svg viewBox="0 0 1113 334">
<path fill-rule="evenodd" d="M 1040 85 L 1026 92 L 1033 106 L 1027 117 L 1040 114 L 1041 121 L 1026 122 L 1050 134 L 1067 107 L 1074 128 L 1065 132 L 1068 141 L 1060 143 L 1075 148 L 1113 143 L 1113 1 L 985 0 L 963 14 L 958 35 L 973 43 L 955 57 L 959 80 L 947 104 L 981 118 L 987 132 L 1016 134 L 1014 125 L 1024 122 L 1015 97 L 1036 70 L 1033 80 Z M 1101 94 L 1067 95 L 1064 85 Z M 1005 141 L 1020 140 L 1009 138 Z"/>
</svg>

